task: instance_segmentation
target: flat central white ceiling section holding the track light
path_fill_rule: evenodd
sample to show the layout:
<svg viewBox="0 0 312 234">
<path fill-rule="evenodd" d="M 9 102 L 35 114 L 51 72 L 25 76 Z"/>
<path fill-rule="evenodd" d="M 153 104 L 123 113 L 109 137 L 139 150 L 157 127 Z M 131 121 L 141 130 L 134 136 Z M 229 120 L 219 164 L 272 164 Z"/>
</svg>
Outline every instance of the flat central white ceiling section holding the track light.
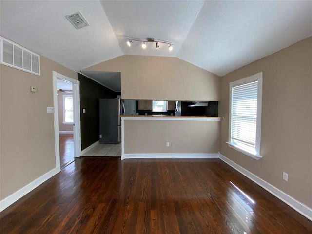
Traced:
<svg viewBox="0 0 312 234">
<path fill-rule="evenodd" d="M 183 45 L 204 1 L 101 1 L 108 20 L 126 55 L 174 56 Z M 142 49 L 140 42 L 131 47 L 125 37 L 167 40 L 174 43 L 174 50 L 168 45 L 147 43 Z"/>
</svg>

